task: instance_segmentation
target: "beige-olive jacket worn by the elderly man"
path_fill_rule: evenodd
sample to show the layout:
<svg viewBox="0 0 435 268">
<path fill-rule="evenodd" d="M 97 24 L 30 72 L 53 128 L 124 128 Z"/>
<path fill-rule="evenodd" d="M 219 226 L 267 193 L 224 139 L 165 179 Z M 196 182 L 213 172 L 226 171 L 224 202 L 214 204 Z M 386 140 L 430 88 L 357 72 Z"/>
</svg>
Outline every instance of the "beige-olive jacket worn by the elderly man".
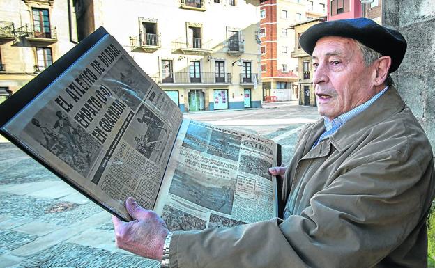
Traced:
<svg viewBox="0 0 435 268">
<path fill-rule="evenodd" d="M 307 125 L 284 176 L 287 219 L 176 232 L 170 267 L 426 267 L 434 162 L 395 88 L 314 141 Z"/>
</svg>

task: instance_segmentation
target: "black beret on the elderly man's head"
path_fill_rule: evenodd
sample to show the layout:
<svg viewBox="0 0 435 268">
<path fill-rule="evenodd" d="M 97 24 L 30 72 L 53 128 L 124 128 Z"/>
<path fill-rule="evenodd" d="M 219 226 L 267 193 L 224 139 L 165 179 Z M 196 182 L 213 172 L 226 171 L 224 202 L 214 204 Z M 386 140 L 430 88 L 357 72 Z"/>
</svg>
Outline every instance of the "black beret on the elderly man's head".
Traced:
<svg viewBox="0 0 435 268">
<path fill-rule="evenodd" d="M 352 38 L 379 52 L 382 56 L 390 56 L 392 63 L 389 72 L 394 72 L 399 68 L 406 52 L 406 40 L 401 33 L 365 17 L 315 24 L 300 36 L 300 47 L 312 55 L 317 40 L 325 36 Z"/>
</svg>

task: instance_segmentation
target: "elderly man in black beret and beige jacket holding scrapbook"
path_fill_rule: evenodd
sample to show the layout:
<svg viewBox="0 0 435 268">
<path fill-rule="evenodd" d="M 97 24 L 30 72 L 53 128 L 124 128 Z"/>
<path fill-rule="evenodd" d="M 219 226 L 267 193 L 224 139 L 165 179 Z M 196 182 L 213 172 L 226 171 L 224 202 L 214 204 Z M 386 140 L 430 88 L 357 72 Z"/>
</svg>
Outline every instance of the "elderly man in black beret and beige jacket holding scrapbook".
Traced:
<svg viewBox="0 0 435 268">
<path fill-rule="evenodd" d="M 316 24 L 312 55 L 322 120 L 307 125 L 284 175 L 284 219 L 169 232 L 132 198 L 116 243 L 163 267 L 426 267 L 432 150 L 389 73 L 403 36 L 369 19 Z M 285 173 L 284 173 L 285 171 Z"/>
</svg>

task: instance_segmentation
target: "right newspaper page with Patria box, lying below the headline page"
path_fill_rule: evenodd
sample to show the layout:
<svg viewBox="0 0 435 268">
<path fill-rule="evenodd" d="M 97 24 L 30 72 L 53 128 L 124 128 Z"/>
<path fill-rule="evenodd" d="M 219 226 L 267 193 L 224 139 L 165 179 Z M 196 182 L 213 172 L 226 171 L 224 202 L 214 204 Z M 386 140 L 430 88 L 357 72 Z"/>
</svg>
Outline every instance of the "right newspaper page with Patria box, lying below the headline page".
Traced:
<svg viewBox="0 0 435 268">
<path fill-rule="evenodd" d="M 277 216 L 277 145 L 193 120 L 183 120 L 155 211 L 170 230 L 237 226 Z"/>
</svg>

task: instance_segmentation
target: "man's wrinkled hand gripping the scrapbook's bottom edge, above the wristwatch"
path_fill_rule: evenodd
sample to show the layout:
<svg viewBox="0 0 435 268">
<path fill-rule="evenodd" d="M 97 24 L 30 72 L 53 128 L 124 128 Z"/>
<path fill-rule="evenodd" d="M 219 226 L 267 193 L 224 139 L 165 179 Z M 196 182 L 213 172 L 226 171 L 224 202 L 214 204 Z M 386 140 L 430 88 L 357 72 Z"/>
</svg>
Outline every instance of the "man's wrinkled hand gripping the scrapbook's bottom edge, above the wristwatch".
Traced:
<svg viewBox="0 0 435 268">
<path fill-rule="evenodd" d="M 137 205 L 132 197 L 127 198 L 125 207 L 134 220 L 123 222 L 112 216 L 116 246 L 145 258 L 162 260 L 163 244 L 169 232 L 165 221 Z"/>
</svg>

